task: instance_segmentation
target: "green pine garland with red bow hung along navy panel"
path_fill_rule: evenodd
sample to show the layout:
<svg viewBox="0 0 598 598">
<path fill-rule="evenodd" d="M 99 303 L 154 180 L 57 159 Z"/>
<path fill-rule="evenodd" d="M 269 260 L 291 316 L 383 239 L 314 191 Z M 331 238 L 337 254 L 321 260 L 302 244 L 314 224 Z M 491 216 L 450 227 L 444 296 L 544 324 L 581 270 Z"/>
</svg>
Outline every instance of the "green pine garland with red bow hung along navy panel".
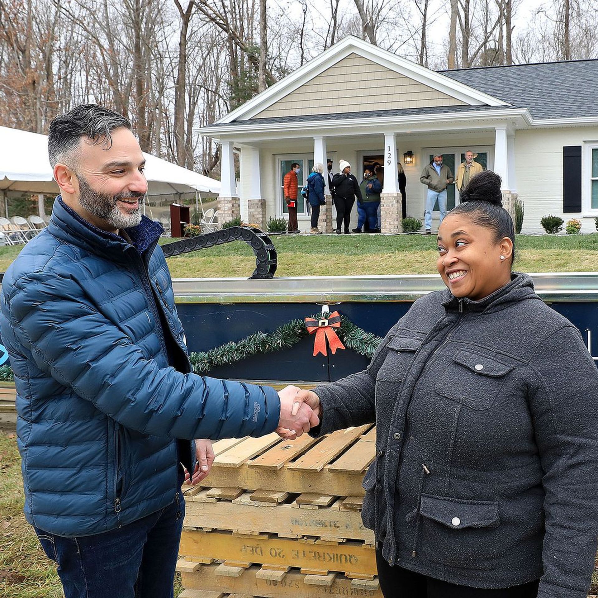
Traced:
<svg viewBox="0 0 598 598">
<path fill-rule="evenodd" d="M 318 313 L 310 317 L 317 321 L 322 318 L 322 314 Z M 345 316 L 341 316 L 340 328 L 336 328 L 335 331 L 347 349 L 366 357 L 374 355 L 382 342 L 382 337 L 365 332 Z M 255 332 L 237 342 L 229 341 L 209 351 L 191 353 L 189 359 L 193 370 L 198 374 L 203 374 L 218 365 L 234 364 L 251 355 L 289 349 L 309 335 L 303 320 L 291 320 L 288 324 L 283 324 L 272 332 Z M 13 370 L 10 366 L 0 366 L 0 382 L 13 382 L 13 380 Z"/>
</svg>

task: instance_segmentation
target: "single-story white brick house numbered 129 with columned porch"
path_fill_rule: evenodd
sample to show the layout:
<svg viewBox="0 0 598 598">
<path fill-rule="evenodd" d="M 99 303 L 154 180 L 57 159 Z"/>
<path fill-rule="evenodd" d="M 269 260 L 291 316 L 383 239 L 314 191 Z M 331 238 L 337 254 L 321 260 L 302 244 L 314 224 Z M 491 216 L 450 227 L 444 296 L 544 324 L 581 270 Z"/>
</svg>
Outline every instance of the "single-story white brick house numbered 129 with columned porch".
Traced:
<svg viewBox="0 0 598 598">
<path fill-rule="evenodd" d="M 423 219 L 425 164 L 441 152 L 454 172 L 471 149 L 502 176 L 505 206 L 515 196 L 523 202 L 523 232 L 542 231 L 548 214 L 595 231 L 597 80 L 598 60 L 437 72 L 349 36 L 200 131 L 222 145 L 221 218 L 241 215 L 264 227 L 283 215 L 282 179 L 293 162 L 301 186 L 314 162 L 331 158 L 338 172 L 347 160 L 361 180 L 364 164 L 377 161 L 382 232 L 396 233 L 397 162 L 407 176 L 407 214 Z M 451 185 L 449 206 L 458 195 Z M 298 216 L 309 230 L 301 201 Z M 323 217 L 329 232 L 331 206 Z"/>
</svg>

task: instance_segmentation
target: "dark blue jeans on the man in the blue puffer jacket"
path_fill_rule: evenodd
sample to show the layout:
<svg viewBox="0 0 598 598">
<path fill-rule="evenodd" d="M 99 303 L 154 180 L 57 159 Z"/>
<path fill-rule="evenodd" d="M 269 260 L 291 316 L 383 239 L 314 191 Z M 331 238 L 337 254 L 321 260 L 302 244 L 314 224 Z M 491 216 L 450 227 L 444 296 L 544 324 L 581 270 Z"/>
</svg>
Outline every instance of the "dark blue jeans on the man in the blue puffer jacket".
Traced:
<svg viewBox="0 0 598 598">
<path fill-rule="evenodd" d="M 65 598 L 173 598 L 184 515 L 179 492 L 178 502 L 110 532 L 65 538 L 34 529 Z"/>
</svg>

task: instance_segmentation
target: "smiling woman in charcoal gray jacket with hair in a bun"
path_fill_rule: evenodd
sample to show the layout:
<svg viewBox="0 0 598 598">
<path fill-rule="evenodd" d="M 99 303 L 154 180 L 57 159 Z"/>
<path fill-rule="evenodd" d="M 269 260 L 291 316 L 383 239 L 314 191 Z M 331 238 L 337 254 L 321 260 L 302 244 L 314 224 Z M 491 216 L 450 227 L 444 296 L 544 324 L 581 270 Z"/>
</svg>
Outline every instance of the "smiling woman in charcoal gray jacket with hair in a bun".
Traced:
<svg viewBox="0 0 598 598">
<path fill-rule="evenodd" d="M 376 421 L 362 517 L 380 586 L 405 598 L 585 598 L 598 535 L 598 370 L 579 331 L 512 273 L 500 178 L 438 231 L 447 286 L 367 370 L 303 391 L 313 434 Z"/>
</svg>

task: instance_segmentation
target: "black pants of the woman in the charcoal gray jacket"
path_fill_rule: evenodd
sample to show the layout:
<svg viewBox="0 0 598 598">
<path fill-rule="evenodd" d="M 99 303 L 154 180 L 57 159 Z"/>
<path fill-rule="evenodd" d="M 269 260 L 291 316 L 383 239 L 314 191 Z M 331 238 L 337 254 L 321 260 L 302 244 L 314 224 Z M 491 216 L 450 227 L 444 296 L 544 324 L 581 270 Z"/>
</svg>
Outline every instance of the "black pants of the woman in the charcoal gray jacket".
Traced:
<svg viewBox="0 0 598 598">
<path fill-rule="evenodd" d="M 466 585 L 449 584 L 401 567 L 391 567 L 376 550 L 380 590 L 385 598 L 536 598 L 539 580 L 512 588 L 484 590 Z"/>
</svg>

